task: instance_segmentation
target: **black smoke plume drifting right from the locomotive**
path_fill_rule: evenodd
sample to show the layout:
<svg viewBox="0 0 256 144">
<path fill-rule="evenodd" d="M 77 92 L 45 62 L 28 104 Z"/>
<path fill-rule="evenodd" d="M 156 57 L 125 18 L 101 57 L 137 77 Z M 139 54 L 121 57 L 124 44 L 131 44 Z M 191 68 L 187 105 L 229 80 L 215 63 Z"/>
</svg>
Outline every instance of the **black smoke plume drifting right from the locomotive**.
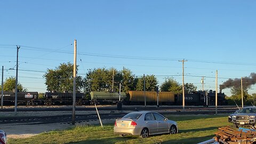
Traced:
<svg viewBox="0 0 256 144">
<path fill-rule="evenodd" d="M 251 85 L 256 83 L 256 73 L 251 73 L 249 77 L 243 77 L 243 87 L 250 88 Z M 228 81 L 220 84 L 220 90 L 230 88 L 230 87 L 241 87 L 241 78 L 231 79 L 229 78 Z"/>
</svg>

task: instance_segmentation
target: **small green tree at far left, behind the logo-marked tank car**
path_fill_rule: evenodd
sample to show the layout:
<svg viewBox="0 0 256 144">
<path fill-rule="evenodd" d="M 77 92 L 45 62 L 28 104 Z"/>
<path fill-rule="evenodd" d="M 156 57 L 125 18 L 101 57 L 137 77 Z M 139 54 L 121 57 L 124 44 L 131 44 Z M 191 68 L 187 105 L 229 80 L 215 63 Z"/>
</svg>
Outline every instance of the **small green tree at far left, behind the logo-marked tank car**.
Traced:
<svg viewBox="0 0 256 144">
<path fill-rule="evenodd" d="M 16 78 L 15 77 L 9 77 L 5 79 L 4 82 L 4 91 L 13 91 L 15 90 L 15 85 L 16 85 Z M 18 87 L 17 87 L 19 92 L 26 92 L 27 89 L 24 88 L 19 82 L 18 82 Z M 2 90 L 2 86 L 0 86 L 0 90 Z"/>
</svg>

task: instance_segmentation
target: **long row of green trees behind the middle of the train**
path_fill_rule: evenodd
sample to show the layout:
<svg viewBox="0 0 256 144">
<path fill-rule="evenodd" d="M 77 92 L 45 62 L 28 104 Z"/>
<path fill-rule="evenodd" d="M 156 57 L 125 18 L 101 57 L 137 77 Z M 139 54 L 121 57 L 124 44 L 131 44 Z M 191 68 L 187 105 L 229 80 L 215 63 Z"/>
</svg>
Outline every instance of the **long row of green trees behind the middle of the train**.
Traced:
<svg viewBox="0 0 256 144">
<path fill-rule="evenodd" d="M 77 66 L 78 71 L 78 66 Z M 73 91 L 73 64 L 61 63 L 55 69 L 47 69 L 43 76 L 47 91 Z M 114 84 L 113 84 L 114 77 Z M 90 93 L 91 91 L 119 91 L 121 83 L 121 91 L 143 91 L 144 77 L 135 76 L 130 69 L 123 68 L 117 70 L 115 68 L 94 68 L 89 69 L 85 77 L 76 77 L 76 91 Z M 165 91 L 182 93 L 182 86 L 173 78 L 166 78 L 164 83 L 158 85 L 155 75 L 145 76 L 146 91 Z M 196 91 L 197 87 L 191 83 L 185 84 L 187 92 Z"/>
</svg>

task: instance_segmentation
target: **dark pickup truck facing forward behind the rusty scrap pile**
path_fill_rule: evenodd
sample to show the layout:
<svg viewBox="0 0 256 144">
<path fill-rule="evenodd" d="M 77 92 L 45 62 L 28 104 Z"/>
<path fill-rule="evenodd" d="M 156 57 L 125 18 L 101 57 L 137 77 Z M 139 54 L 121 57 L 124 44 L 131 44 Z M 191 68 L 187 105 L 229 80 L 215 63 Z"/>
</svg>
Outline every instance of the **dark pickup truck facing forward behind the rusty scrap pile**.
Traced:
<svg viewBox="0 0 256 144">
<path fill-rule="evenodd" d="M 256 128 L 256 107 L 244 107 L 236 114 L 230 115 L 233 126 L 249 126 Z"/>
</svg>

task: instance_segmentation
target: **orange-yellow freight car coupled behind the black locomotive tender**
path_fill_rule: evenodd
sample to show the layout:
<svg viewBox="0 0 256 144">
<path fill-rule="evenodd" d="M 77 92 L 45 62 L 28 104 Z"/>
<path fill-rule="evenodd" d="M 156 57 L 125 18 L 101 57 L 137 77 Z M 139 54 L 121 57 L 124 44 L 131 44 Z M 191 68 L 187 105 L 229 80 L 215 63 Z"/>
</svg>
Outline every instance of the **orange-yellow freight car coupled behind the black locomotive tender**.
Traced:
<svg viewBox="0 0 256 144">
<path fill-rule="evenodd" d="M 150 91 L 129 91 L 127 93 L 128 103 L 131 105 L 141 105 L 146 102 L 149 105 L 156 105 L 157 103 L 157 94 L 158 101 L 162 105 L 172 105 L 174 104 L 174 93 L 172 92 L 150 92 Z"/>
</svg>

